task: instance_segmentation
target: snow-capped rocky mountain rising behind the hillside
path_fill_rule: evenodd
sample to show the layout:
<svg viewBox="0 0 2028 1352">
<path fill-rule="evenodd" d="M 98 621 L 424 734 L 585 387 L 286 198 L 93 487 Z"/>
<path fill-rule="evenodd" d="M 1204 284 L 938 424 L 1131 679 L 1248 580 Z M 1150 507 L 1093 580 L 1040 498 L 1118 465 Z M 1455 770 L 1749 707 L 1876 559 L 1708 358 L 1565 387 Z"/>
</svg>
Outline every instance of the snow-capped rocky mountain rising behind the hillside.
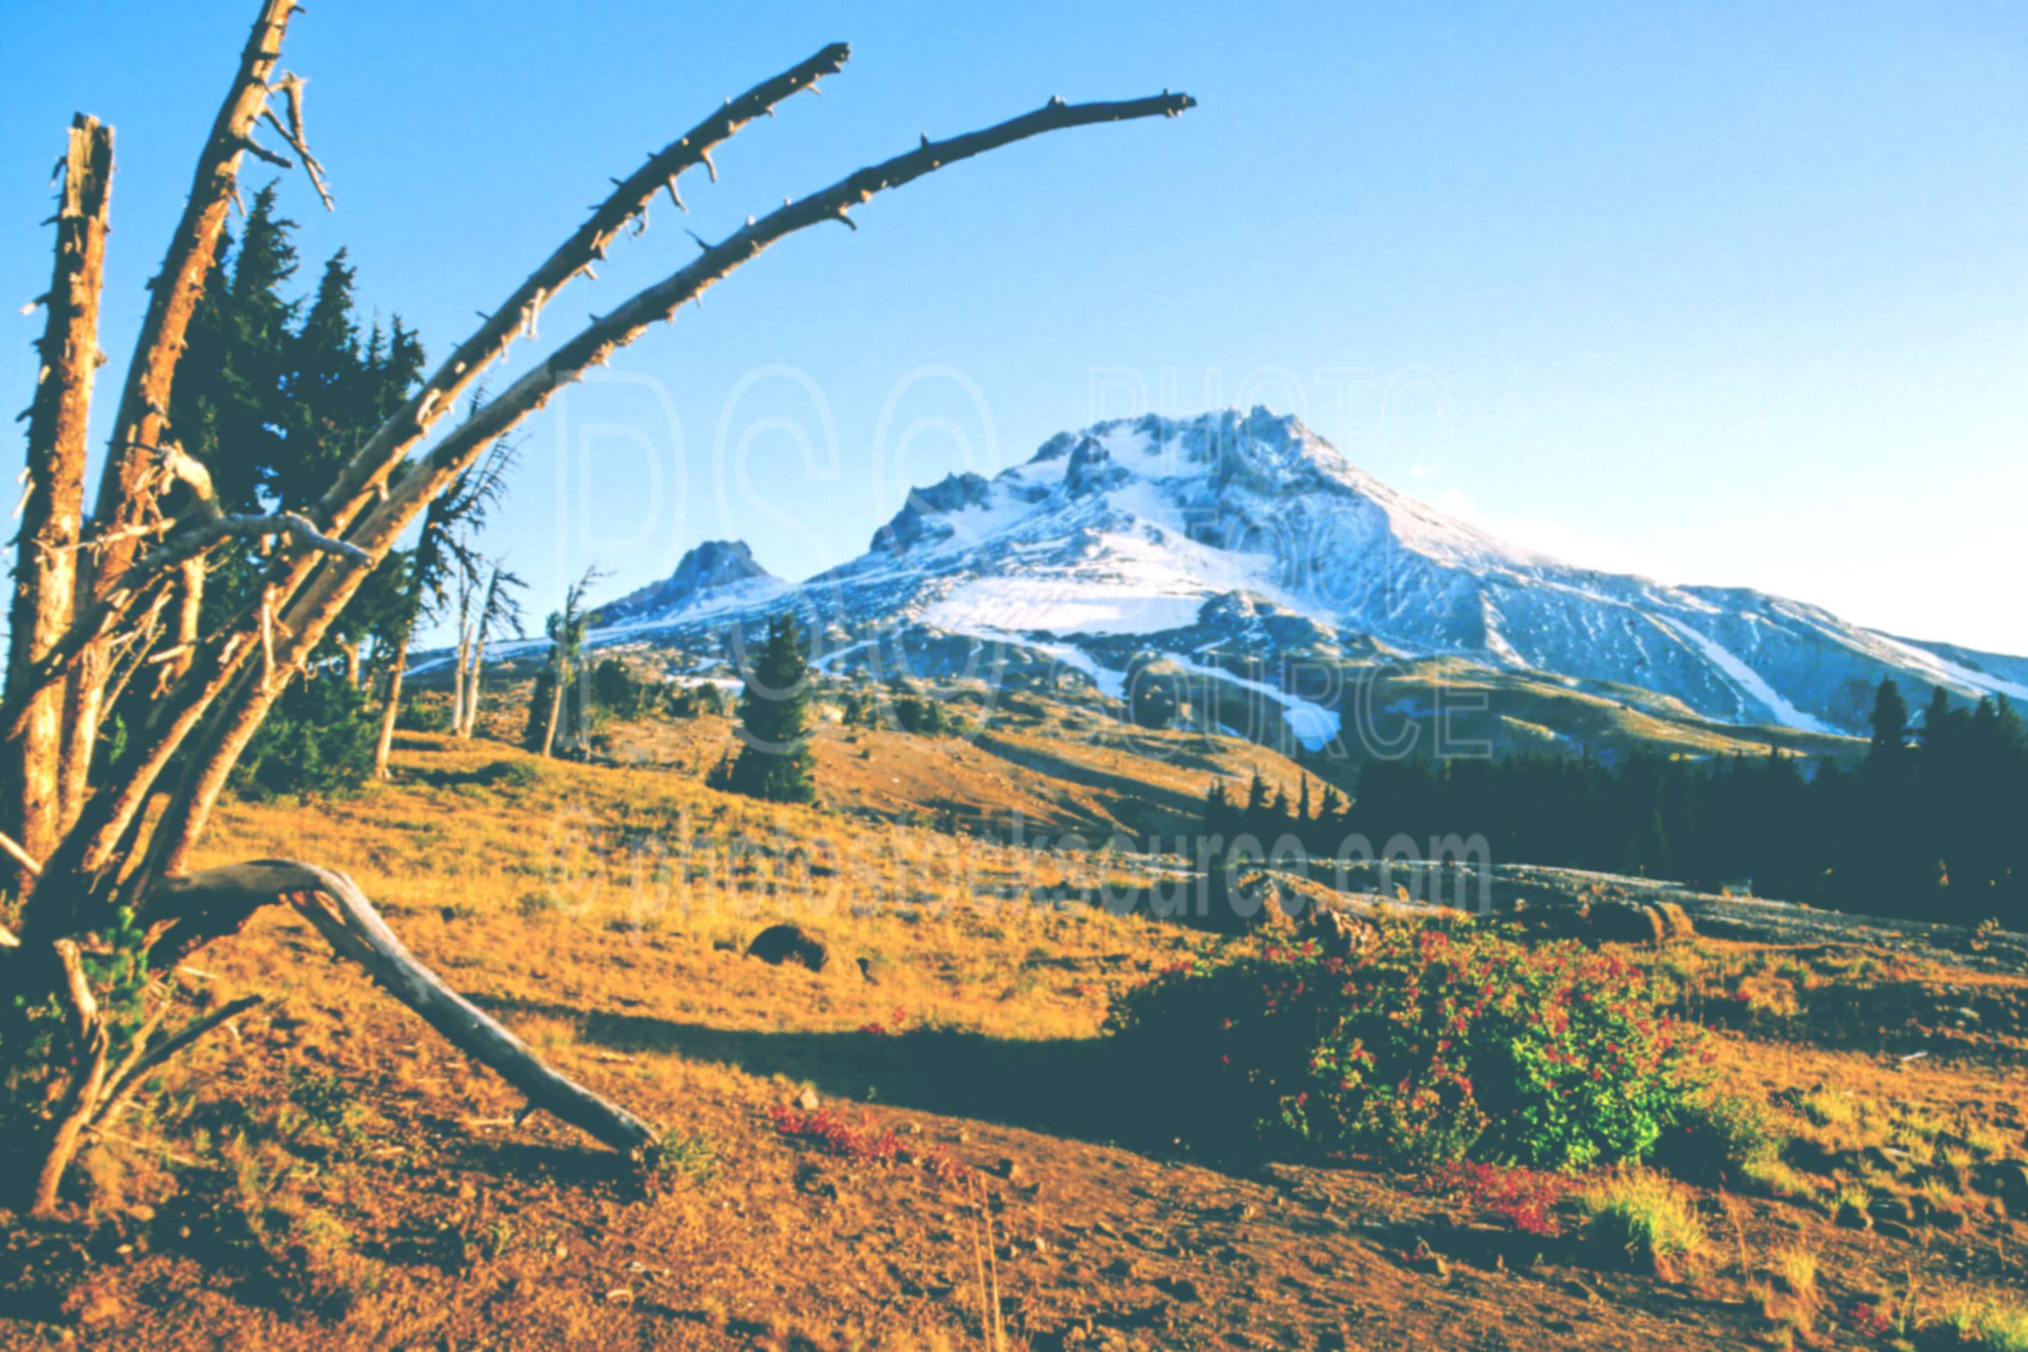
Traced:
<svg viewBox="0 0 2028 1352">
<path fill-rule="evenodd" d="M 1931 685 L 2028 699 L 2028 659 L 1497 539 L 1265 409 L 1105 422 L 1059 434 L 992 478 L 951 474 L 913 491 L 864 555 L 799 586 L 742 543 L 700 545 L 669 580 L 606 606 L 600 639 L 675 639 L 783 604 L 829 634 L 823 661 L 909 630 L 1042 653 L 1107 693 L 1136 657 L 1229 677 L 1221 659 L 1310 653 L 1460 657 L 1805 732 L 1862 732 L 1882 675 L 1912 701 Z M 1308 701 L 1292 701 L 1292 724 L 1298 716 L 1316 730 L 1336 724 Z"/>
</svg>

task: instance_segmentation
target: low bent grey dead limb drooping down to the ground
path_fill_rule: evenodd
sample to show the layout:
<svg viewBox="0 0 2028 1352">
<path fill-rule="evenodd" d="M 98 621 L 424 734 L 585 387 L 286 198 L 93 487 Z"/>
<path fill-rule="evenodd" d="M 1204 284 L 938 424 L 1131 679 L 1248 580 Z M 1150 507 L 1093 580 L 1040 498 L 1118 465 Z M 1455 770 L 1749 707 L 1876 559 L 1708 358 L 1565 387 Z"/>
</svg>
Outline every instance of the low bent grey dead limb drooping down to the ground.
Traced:
<svg viewBox="0 0 2028 1352">
<path fill-rule="evenodd" d="M 412 955 L 359 886 L 335 870 L 290 859 L 256 859 L 166 878 L 150 910 L 193 924 L 197 932 L 231 930 L 270 902 L 286 900 L 341 955 L 371 975 L 389 995 L 422 1016 L 473 1060 L 495 1070 L 541 1109 L 619 1151 L 639 1151 L 655 1129 L 576 1080 L 556 1072 Z M 174 943 L 170 951 L 174 951 Z"/>
</svg>

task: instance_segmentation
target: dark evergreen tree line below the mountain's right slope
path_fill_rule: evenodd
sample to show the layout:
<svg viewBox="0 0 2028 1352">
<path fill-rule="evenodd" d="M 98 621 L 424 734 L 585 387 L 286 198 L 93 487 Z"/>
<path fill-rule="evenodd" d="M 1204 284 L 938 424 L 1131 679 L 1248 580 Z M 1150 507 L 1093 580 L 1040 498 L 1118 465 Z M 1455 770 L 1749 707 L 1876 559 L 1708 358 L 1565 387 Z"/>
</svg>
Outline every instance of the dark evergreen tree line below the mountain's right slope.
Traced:
<svg viewBox="0 0 2028 1352">
<path fill-rule="evenodd" d="M 1371 760 L 1357 799 L 1298 801 L 1255 778 L 1243 803 L 1213 784 L 1209 833 L 1263 843 L 1294 833 L 1330 857 L 1359 833 L 1381 849 L 1482 835 L 1495 861 L 1545 863 L 1750 888 L 1756 896 L 1868 914 L 1975 924 L 2028 918 L 2028 726 L 2004 697 L 1933 691 L 1921 716 L 1892 679 L 1872 738 L 1848 770 L 1770 750 L 1691 760 L 1635 754 L 1503 760 Z"/>
</svg>

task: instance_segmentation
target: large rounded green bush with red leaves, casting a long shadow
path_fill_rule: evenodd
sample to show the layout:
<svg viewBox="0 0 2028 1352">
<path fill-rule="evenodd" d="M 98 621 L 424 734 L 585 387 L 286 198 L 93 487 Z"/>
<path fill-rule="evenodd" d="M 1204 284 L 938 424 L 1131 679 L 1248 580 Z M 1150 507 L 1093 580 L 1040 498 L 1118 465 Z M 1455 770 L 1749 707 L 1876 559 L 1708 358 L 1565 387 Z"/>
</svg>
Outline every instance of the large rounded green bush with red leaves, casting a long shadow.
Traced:
<svg viewBox="0 0 2028 1352">
<path fill-rule="evenodd" d="M 1701 1088 L 1689 1026 L 1626 957 L 1387 922 L 1178 967 L 1111 1016 L 1121 1066 L 1213 1149 L 1462 1157 L 1576 1170 L 1641 1159 Z"/>
</svg>

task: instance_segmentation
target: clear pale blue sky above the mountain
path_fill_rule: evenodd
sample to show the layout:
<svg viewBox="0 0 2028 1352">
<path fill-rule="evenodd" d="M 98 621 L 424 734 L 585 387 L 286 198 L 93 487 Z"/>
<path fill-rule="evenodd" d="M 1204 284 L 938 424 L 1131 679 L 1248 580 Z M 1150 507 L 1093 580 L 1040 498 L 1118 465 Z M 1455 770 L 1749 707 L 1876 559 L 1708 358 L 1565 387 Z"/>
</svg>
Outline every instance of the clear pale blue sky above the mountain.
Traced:
<svg viewBox="0 0 2028 1352">
<path fill-rule="evenodd" d="M 71 111 L 118 132 L 105 422 L 254 10 L 0 6 L 6 407 Z M 552 403 L 489 537 L 533 610 L 590 561 L 617 592 L 710 537 L 799 578 L 909 482 L 1259 401 L 1580 564 L 2028 653 L 2020 4 L 327 0 L 284 55 L 339 201 L 286 184 L 302 286 L 347 245 L 361 300 L 440 355 L 608 174 L 834 39 L 846 71 L 734 138 L 716 186 L 687 176 L 683 225 L 718 237 L 1053 93 L 1201 105 L 884 195 Z M 657 205 L 544 345 L 687 261 L 675 219 Z"/>
</svg>

